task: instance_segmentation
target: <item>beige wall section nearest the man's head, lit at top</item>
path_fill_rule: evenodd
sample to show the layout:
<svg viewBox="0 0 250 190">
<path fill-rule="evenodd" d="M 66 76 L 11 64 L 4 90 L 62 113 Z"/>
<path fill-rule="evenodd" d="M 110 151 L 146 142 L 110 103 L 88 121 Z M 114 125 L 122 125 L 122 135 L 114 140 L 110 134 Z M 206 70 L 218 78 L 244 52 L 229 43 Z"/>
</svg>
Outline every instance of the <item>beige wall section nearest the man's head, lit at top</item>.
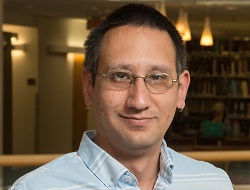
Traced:
<svg viewBox="0 0 250 190">
<path fill-rule="evenodd" d="M 39 152 L 72 150 L 73 64 L 48 46 L 82 47 L 88 34 L 83 19 L 39 18 Z M 81 79 L 79 79 L 81 80 Z"/>
</svg>

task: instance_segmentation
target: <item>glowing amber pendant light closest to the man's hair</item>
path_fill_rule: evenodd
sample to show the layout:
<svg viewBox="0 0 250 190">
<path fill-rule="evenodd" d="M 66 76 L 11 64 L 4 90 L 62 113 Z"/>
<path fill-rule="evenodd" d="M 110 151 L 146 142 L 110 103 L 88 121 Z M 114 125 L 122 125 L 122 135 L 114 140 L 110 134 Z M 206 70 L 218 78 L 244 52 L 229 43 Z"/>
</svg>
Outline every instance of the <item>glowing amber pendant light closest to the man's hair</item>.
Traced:
<svg viewBox="0 0 250 190">
<path fill-rule="evenodd" d="M 179 11 L 179 16 L 175 27 L 184 41 L 191 40 L 191 31 L 188 24 L 188 14 L 186 11 L 184 12 L 182 9 Z"/>
</svg>

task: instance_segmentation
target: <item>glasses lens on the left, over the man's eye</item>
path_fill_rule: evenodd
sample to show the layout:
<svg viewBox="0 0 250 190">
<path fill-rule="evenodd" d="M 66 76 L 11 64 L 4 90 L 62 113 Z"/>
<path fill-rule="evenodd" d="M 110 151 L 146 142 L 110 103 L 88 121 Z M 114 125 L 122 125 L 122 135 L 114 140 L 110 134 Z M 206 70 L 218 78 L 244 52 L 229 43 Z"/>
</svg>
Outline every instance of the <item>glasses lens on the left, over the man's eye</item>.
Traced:
<svg viewBox="0 0 250 190">
<path fill-rule="evenodd" d="M 133 74 L 125 71 L 109 71 L 106 79 L 110 86 L 124 90 L 130 86 Z"/>
</svg>

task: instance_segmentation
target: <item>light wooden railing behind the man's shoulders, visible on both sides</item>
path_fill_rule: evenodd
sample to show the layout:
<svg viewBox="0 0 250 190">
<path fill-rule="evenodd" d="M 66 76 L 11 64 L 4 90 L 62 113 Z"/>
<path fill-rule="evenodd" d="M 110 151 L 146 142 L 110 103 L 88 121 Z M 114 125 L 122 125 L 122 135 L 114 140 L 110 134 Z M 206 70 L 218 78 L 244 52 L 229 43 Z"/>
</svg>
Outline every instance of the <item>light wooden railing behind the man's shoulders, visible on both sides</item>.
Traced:
<svg viewBox="0 0 250 190">
<path fill-rule="evenodd" d="M 250 161 L 250 150 L 233 151 L 190 151 L 181 152 L 191 158 L 208 162 Z M 0 155 L 0 167 L 3 166 L 40 166 L 61 154 L 23 154 Z"/>
</svg>

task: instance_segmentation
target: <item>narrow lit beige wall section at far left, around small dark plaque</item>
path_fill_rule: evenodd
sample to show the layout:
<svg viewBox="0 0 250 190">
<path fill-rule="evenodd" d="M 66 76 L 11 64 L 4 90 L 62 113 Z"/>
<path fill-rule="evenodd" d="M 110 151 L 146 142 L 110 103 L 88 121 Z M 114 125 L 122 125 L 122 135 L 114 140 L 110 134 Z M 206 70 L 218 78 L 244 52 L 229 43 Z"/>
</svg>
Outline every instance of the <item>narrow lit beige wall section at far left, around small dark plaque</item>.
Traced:
<svg viewBox="0 0 250 190">
<path fill-rule="evenodd" d="M 34 27 L 3 25 L 4 32 L 18 34 L 13 44 L 26 44 L 26 50 L 12 50 L 13 153 L 35 153 L 38 92 L 38 30 Z M 29 78 L 35 79 L 28 85 Z"/>
</svg>

